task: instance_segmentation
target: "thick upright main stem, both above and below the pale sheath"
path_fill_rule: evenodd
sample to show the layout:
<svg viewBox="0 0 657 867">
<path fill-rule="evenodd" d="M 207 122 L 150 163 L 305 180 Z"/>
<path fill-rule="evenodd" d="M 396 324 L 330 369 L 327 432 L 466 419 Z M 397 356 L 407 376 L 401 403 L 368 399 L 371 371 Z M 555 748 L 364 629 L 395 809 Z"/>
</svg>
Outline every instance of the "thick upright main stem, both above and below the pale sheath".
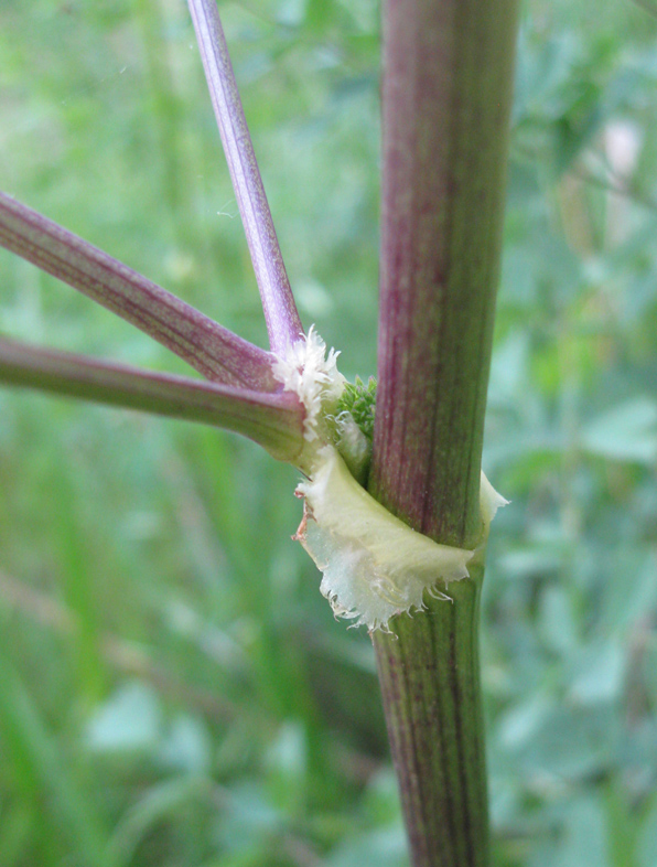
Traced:
<svg viewBox="0 0 657 867">
<path fill-rule="evenodd" d="M 379 383 L 371 493 L 439 543 L 482 543 L 516 0 L 385 0 Z M 373 635 L 413 867 L 484 867 L 483 554 Z M 441 588 L 442 589 L 442 588 Z"/>
</svg>

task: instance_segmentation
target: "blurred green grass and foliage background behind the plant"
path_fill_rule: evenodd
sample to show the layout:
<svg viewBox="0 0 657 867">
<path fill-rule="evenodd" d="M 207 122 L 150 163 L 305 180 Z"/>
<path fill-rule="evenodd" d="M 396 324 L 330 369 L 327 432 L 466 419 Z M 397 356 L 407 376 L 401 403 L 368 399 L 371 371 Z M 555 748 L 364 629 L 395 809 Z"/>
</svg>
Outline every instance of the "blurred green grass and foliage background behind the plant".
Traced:
<svg viewBox="0 0 657 867">
<path fill-rule="evenodd" d="M 657 864 L 653 6 L 524 8 L 485 451 L 500 867 Z M 378 4 L 222 11 L 304 323 L 370 375 Z M 0 85 L 1 189 L 265 345 L 183 0 L 0 0 Z M 0 329 L 185 371 L 4 253 Z M 408 864 L 371 647 L 290 540 L 294 483 L 213 429 L 0 390 L 0 867 Z"/>
</svg>

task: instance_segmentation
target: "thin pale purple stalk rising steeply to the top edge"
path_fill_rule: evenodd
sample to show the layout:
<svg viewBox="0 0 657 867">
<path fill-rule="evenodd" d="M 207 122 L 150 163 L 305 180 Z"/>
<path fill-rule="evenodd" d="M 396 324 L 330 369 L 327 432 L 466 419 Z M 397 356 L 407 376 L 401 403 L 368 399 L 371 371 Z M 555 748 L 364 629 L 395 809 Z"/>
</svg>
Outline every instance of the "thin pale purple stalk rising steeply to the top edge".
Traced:
<svg viewBox="0 0 657 867">
<path fill-rule="evenodd" d="M 216 0 L 189 0 L 212 104 L 262 299 L 269 344 L 284 355 L 303 334 L 237 89 Z"/>
</svg>

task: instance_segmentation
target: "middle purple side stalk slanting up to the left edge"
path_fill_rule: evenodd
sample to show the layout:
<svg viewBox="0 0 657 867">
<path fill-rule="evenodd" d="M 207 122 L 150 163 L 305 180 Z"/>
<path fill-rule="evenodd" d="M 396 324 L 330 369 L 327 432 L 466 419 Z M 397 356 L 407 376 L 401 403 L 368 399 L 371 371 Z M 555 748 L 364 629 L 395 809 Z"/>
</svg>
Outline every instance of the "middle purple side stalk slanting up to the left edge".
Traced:
<svg viewBox="0 0 657 867">
<path fill-rule="evenodd" d="M 278 388 L 263 350 L 1 192 L 0 245 L 137 325 L 208 379 Z"/>
</svg>

